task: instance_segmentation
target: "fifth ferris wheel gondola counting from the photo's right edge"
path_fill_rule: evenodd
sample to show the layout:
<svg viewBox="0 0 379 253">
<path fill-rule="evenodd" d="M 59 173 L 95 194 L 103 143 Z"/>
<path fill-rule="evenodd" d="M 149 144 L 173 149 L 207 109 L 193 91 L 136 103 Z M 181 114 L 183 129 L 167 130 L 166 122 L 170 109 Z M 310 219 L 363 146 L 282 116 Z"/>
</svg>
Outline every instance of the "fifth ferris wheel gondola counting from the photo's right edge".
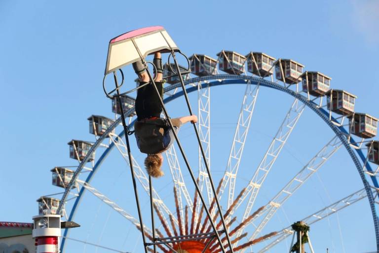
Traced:
<svg viewBox="0 0 379 253">
<path fill-rule="evenodd" d="M 298 84 L 302 81 L 304 65 L 291 59 L 279 59 L 275 64 L 275 78 L 286 84 Z"/>
</svg>

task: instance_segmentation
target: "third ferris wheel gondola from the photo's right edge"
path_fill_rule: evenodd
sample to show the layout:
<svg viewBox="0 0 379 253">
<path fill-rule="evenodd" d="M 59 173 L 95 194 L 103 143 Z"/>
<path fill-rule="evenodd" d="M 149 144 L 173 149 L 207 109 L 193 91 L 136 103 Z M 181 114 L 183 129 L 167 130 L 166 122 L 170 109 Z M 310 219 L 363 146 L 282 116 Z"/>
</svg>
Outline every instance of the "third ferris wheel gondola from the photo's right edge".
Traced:
<svg viewBox="0 0 379 253">
<path fill-rule="evenodd" d="M 330 89 L 327 96 L 328 110 L 340 115 L 349 115 L 354 112 L 355 95 L 341 89 Z"/>
</svg>

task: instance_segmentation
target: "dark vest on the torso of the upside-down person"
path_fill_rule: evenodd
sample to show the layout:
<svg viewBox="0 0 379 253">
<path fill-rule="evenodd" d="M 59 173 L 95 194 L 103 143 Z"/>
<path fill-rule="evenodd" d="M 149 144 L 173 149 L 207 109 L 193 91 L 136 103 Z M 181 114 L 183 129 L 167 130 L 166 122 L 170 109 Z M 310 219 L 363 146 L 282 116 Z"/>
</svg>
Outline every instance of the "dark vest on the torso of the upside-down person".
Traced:
<svg viewBox="0 0 379 253">
<path fill-rule="evenodd" d="M 171 122 L 174 127 L 180 126 L 179 119 L 172 119 Z M 145 154 L 157 154 L 167 149 L 168 147 L 165 148 L 163 145 L 163 136 L 169 127 L 167 120 L 161 118 L 134 123 L 134 134 L 138 137 L 140 151 Z"/>
</svg>

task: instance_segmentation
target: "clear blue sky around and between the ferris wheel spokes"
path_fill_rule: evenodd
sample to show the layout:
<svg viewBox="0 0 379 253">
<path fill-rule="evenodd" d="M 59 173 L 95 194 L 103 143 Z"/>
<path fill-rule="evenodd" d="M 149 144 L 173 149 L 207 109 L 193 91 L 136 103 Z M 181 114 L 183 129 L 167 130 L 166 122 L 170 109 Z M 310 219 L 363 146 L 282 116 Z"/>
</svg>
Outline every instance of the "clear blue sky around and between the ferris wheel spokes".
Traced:
<svg viewBox="0 0 379 253">
<path fill-rule="evenodd" d="M 76 165 L 68 157 L 67 142 L 73 138 L 94 140 L 88 133 L 86 118 L 91 114 L 114 117 L 111 103 L 101 87 L 111 38 L 129 30 L 162 25 L 187 55 L 203 53 L 216 57 L 217 52 L 226 49 L 242 54 L 263 51 L 276 58 L 292 58 L 303 63 L 306 70 L 332 77 L 333 87 L 357 95 L 357 112 L 378 117 L 378 12 L 376 0 L 144 3 L 1 0 L 0 220 L 31 221 L 38 212 L 38 197 L 60 191 L 51 186 L 49 170 L 54 166 Z M 132 72 L 129 70 L 126 74 L 126 81 L 134 85 Z M 225 157 L 230 149 L 243 90 L 242 86 L 234 86 L 212 91 L 215 181 L 220 179 L 226 166 Z M 196 94 L 190 97 L 196 108 Z M 282 93 L 262 90 L 248 138 L 250 144 L 245 150 L 246 161 L 241 165 L 244 168 L 239 174 L 241 182 L 250 179 L 291 101 L 292 98 Z M 183 106 L 183 101 L 173 102 L 169 105 L 171 115 L 185 114 Z M 191 142 L 191 134 L 190 128 L 184 127 L 180 137 Z M 304 112 L 261 190 L 262 200 L 257 207 L 265 204 L 285 184 L 286 180 L 280 181 L 281 177 L 291 178 L 331 137 L 332 132 L 324 123 L 312 112 Z M 196 148 L 188 151 L 194 165 L 197 164 L 196 151 Z M 99 150 L 97 155 L 101 152 Z M 115 150 L 113 153 L 104 165 L 108 170 L 100 172 L 94 184 L 136 216 L 134 206 L 128 205 L 133 201 L 128 199 L 132 192 L 129 171 L 119 154 Z M 137 158 L 142 165 L 143 156 L 137 155 Z M 292 173 L 281 169 L 283 167 L 292 168 Z M 165 191 L 163 187 L 168 185 L 171 189 L 167 165 L 165 171 L 165 179 L 156 184 L 172 206 L 171 190 Z M 238 184 L 242 186 L 243 183 Z M 298 198 L 284 207 L 285 212 L 278 211 L 267 232 L 283 228 L 361 187 L 347 152 L 340 150 L 317 176 L 309 180 Z M 99 202 L 91 198 L 90 194 L 86 195 L 81 214 L 77 215 L 77 221 L 83 226 L 72 236 L 124 251 L 141 252 L 141 239 L 136 230 L 131 228 L 129 233 L 129 223 L 104 206 L 99 209 Z M 147 203 L 145 200 L 145 208 Z M 148 219 L 148 212 L 146 215 Z M 107 220 L 108 223 L 91 229 L 93 220 L 98 223 Z M 118 224 L 125 225 L 117 227 Z M 113 233 L 116 231 L 121 243 L 107 238 L 108 230 L 104 227 Z M 330 252 L 374 251 L 368 201 L 341 211 L 338 218 L 335 215 L 315 225 L 310 235 L 313 246 L 320 252 L 327 247 Z M 71 243 L 68 249 L 81 252 L 83 245 Z M 87 247 L 86 250 L 93 252 L 92 249 Z M 272 252 L 283 249 L 287 249 L 285 243 Z"/>
</svg>

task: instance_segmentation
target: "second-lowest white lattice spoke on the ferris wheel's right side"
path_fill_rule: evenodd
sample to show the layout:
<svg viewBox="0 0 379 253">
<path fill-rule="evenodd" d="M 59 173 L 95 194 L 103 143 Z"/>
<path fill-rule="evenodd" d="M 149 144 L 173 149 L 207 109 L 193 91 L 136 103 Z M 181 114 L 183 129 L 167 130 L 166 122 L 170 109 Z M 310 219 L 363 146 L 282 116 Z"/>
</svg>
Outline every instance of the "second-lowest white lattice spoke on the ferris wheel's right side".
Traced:
<svg viewBox="0 0 379 253">
<path fill-rule="evenodd" d="M 260 216 L 264 216 L 261 223 L 257 226 L 254 233 L 251 235 L 250 240 L 255 239 L 258 234 L 263 230 L 268 221 L 272 218 L 275 212 L 289 199 L 296 190 L 298 190 L 303 183 L 313 175 L 318 169 L 320 169 L 326 161 L 328 161 L 336 152 L 340 149 L 342 143 L 338 136 L 335 136 L 329 141 L 295 176 L 292 178 L 286 186 L 274 197 L 271 201 L 265 205 L 256 217 L 251 222 L 256 220 Z"/>
</svg>

